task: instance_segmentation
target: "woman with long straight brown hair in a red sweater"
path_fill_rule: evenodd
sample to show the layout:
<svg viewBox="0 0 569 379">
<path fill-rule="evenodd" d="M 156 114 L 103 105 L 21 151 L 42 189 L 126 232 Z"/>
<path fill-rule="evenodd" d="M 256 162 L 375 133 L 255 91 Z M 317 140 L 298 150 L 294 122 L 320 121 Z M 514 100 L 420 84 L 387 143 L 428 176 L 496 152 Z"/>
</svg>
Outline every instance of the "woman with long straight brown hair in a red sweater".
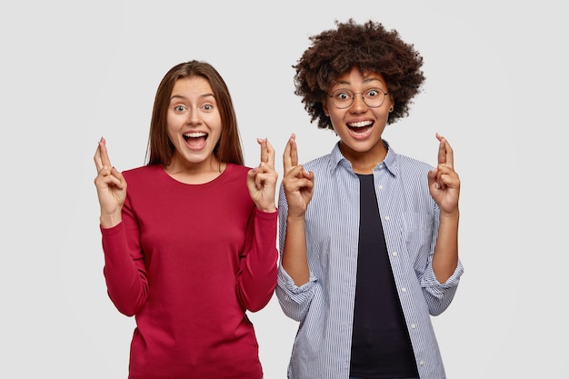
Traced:
<svg viewBox="0 0 569 379">
<path fill-rule="evenodd" d="M 276 285 L 275 150 L 245 167 L 235 110 L 212 65 L 158 86 L 146 165 L 95 152 L 105 281 L 135 316 L 129 378 L 261 379 L 253 324 Z"/>
</svg>

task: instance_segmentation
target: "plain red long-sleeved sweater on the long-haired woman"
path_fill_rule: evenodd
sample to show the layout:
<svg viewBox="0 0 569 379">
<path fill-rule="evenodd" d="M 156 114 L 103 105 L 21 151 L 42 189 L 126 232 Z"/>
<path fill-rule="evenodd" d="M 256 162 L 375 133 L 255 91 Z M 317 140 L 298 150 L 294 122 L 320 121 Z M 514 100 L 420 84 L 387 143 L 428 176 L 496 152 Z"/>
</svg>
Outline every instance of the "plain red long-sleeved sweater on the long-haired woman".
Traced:
<svg viewBox="0 0 569 379">
<path fill-rule="evenodd" d="M 277 213 L 258 210 L 248 168 L 185 185 L 160 165 L 125 171 L 123 221 L 101 228 L 108 294 L 135 315 L 130 379 L 263 376 L 253 324 L 276 285 Z"/>
</svg>

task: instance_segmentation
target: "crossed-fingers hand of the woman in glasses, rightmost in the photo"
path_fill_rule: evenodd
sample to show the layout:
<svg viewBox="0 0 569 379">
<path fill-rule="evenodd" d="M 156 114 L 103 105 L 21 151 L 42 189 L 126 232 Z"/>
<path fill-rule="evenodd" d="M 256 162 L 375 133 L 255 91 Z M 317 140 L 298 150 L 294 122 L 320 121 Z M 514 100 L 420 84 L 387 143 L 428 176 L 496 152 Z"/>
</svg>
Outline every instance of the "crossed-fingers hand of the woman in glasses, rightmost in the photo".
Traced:
<svg viewBox="0 0 569 379">
<path fill-rule="evenodd" d="M 438 164 L 428 173 L 429 192 L 442 214 L 458 212 L 458 197 L 460 194 L 460 179 L 454 171 L 454 155 L 451 145 L 438 133 L 439 140 Z"/>
</svg>

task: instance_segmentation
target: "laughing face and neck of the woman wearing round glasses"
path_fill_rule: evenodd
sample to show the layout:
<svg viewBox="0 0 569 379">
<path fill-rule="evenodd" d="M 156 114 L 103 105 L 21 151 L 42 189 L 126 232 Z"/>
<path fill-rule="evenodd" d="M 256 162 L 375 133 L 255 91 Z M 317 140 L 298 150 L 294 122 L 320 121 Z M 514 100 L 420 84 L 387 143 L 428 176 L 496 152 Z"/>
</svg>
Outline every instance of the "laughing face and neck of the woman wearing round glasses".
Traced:
<svg viewBox="0 0 569 379">
<path fill-rule="evenodd" d="M 336 92 L 338 90 L 345 92 Z M 370 72 L 362 74 L 357 67 L 336 78 L 328 87 L 329 95 L 323 102 L 324 112 L 330 116 L 334 131 L 340 137 L 342 154 L 354 165 L 356 172 L 369 172 L 369 167 L 373 169 L 374 165 L 384 160 L 387 153 L 382 143 L 382 134 L 393 105 L 391 96 L 383 95 L 388 92 L 383 75 Z M 333 97 L 330 96 L 333 93 L 336 104 L 340 104 L 338 99 L 349 100 L 352 94 L 354 101 L 351 104 L 348 101 L 346 107 L 340 109 L 334 105 Z M 374 96 L 384 96 L 384 102 L 376 107 L 369 106 L 375 105 Z M 364 166 L 367 168 L 364 169 Z"/>
</svg>

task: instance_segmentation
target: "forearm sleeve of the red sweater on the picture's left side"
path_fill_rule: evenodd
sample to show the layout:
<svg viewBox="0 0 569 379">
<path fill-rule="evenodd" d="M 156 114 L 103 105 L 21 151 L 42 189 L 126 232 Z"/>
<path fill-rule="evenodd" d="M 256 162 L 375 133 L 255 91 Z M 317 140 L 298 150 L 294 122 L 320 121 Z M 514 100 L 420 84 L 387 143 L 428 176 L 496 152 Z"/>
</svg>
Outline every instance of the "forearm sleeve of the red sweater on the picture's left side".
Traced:
<svg viewBox="0 0 569 379">
<path fill-rule="evenodd" d="M 123 221 L 112 228 L 100 229 L 105 253 L 103 273 L 107 293 L 120 313 L 135 315 L 148 296 L 138 224 L 125 204 Z"/>
</svg>

